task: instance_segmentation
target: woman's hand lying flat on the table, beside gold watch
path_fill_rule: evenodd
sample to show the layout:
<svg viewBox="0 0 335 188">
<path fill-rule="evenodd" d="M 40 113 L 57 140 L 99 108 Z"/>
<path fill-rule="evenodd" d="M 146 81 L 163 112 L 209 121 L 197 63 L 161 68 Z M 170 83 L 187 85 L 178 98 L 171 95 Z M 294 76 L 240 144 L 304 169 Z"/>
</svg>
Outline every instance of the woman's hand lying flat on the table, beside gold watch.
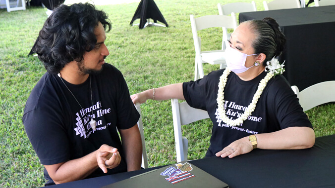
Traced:
<svg viewBox="0 0 335 188">
<path fill-rule="evenodd" d="M 216 156 L 221 156 L 222 158 L 228 156 L 229 158 L 235 157 L 237 155 L 245 154 L 253 150 L 252 144 L 248 137 L 241 138 L 229 144 L 223 150 L 215 153 Z"/>
</svg>

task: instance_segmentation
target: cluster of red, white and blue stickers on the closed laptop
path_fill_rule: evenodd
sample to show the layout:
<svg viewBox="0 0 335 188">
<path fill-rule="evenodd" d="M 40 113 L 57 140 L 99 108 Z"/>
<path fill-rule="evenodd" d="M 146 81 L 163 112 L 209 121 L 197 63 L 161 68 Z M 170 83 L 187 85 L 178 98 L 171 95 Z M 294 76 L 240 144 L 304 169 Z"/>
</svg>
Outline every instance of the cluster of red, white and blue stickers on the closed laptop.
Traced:
<svg viewBox="0 0 335 188">
<path fill-rule="evenodd" d="M 176 184 L 184 180 L 195 177 L 189 171 L 192 171 L 193 168 L 190 163 L 186 162 L 184 164 L 178 163 L 175 164 L 176 168 L 173 166 L 168 167 L 164 172 L 161 173 L 162 176 L 168 176 L 165 178 L 169 183 Z"/>
</svg>

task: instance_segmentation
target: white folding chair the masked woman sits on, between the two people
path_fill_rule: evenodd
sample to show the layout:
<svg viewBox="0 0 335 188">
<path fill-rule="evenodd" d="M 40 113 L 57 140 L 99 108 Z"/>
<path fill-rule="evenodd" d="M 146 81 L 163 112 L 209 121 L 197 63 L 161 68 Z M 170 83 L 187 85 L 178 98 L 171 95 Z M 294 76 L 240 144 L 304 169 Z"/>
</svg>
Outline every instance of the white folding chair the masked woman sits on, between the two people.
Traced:
<svg viewBox="0 0 335 188">
<path fill-rule="evenodd" d="M 188 140 L 182 136 L 181 126 L 201 119 L 209 118 L 207 111 L 190 107 L 186 102 L 179 103 L 171 99 L 174 143 L 177 162 L 187 160 Z"/>
</svg>

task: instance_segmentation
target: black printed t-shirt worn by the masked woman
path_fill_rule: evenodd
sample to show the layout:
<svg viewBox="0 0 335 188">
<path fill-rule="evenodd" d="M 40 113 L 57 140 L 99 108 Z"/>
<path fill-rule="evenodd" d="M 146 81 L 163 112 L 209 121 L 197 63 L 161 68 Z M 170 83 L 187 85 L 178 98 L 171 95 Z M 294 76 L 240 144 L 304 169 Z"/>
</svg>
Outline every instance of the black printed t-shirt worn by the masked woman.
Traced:
<svg viewBox="0 0 335 188">
<path fill-rule="evenodd" d="M 215 156 L 216 152 L 230 143 L 249 135 L 275 132 L 294 126 L 313 128 L 298 98 L 282 75 L 276 75 L 269 80 L 255 111 L 241 126 L 226 125 L 218 114 L 217 104 L 218 84 L 223 71 L 214 71 L 203 79 L 183 83 L 186 102 L 193 108 L 206 110 L 213 122 L 211 144 L 206 156 Z M 267 72 L 263 72 L 252 80 L 243 81 L 230 72 L 224 88 L 227 117 L 236 119 L 244 113 L 266 74 Z"/>
</svg>

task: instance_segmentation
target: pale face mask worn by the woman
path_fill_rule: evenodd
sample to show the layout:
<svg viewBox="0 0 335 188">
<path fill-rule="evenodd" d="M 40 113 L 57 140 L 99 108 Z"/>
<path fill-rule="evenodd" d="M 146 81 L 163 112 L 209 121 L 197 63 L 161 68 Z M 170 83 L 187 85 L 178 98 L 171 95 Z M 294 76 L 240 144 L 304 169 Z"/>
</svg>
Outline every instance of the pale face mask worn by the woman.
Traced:
<svg viewBox="0 0 335 188">
<path fill-rule="evenodd" d="M 225 48 L 225 53 L 224 53 L 224 57 L 225 57 L 225 62 L 227 63 L 227 67 L 230 71 L 234 72 L 235 74 L 239 74 L 239 73 L 244 73 L 246 72 L 248 69 L 252 68 L 253 66 L 247 68 L 245 67 L 245 60 L 247 59 L 247 56 L 251 56 L 251 55 L 257 55 L 257 54 L 245 54 L 242 52 L 239 52 L 238 50 L 230 47 L 229 43 L 227 42 L 228 45 L 226 45 L 227 47 Z"/>
</svg>

